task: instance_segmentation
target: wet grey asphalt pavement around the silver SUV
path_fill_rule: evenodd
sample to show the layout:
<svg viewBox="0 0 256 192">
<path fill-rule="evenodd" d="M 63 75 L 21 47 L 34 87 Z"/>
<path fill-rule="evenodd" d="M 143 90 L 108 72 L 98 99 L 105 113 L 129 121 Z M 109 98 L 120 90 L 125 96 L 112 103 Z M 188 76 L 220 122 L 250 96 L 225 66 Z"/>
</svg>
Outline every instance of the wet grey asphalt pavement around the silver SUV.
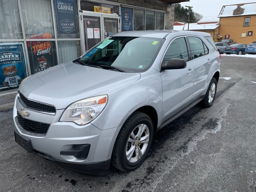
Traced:
<svg viewBox="0 0 256 192">
<path fill-rule="evenodd" d="M 12 110 L 0 112 L 0 191 L 256 192 L 255 63 L 222 56 L 213 106 L 196 105 L 161 129 L 128 173 L 81 175 L 27 153 L 14 141 Z"/>
</svg>

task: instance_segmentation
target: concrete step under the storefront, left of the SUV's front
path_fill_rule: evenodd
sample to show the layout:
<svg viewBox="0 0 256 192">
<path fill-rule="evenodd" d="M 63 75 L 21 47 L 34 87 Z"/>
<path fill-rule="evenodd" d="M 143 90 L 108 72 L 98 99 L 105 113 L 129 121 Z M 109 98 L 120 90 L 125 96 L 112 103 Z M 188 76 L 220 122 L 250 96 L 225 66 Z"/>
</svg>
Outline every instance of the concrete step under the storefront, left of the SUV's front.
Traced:
<svg viewBox="0 0 256 192">
<path fill-rule="evenodd" d="M 0 111 L 5 111 L 13 108 L 14 99 L 18 89 L 6 92 L 0 92 Z"/>
</svg>

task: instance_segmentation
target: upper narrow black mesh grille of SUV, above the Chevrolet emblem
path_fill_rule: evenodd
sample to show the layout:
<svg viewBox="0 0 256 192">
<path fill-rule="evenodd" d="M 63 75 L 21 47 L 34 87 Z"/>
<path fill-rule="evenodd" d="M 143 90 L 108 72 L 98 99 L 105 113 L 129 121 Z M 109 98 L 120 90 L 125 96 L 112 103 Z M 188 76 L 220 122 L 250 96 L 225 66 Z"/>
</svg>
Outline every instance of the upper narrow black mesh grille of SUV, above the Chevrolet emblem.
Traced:
<svg viewBox="0 0 256 192">
<path fill-rule="evenodd" d="M 55 112 L 56 112 L 55 107 L 50 106 L 50 105 L 46 105 L 46 104 L 43 104 L 43 103 L 38 103 L 38 102 L 35 102 L 35 101 L 28 100 L 28 99 L 27 99 L 26 97 L 24 97 L 24 95 L 22 95 L 21 93 L 20 93 L 20 99 L 21 99 L 29 108 L 33 108 L 33 109 L 38 110 L 38 111 L 45 111 L 45 112 L 49 112 L 49 113 L 55 113 Z"/>
</svg>

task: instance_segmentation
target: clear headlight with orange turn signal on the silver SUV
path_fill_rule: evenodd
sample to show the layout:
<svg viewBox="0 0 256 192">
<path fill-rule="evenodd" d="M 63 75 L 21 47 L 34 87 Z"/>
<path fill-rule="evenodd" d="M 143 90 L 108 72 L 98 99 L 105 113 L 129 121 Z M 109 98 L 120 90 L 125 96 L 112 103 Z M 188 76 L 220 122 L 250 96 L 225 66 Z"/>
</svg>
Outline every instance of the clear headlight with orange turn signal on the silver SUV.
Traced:
<svg viewBox="0 0 256 192">
<path fill-rule="evenodd" d="M 105 108 L 107 101 L 108 95 L 76 101 L 65 109 L 60 121 L 74 122 L 78 125 L 88 124 Z"/>
</svg>

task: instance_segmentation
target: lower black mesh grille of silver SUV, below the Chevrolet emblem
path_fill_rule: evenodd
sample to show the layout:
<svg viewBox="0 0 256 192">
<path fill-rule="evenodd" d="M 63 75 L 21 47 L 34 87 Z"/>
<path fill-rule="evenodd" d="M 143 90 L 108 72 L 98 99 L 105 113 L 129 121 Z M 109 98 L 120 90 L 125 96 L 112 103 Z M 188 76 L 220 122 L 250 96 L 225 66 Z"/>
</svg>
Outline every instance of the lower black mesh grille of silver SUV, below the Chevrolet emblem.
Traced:
<svg viewBox="0 0 256 192">
<path fill-rule="evenodd" d="M 48 129 L 50 124 L 45 124 L 45 123 L 39 123 L 36 121 L 31 121 L 28 119 L 23 118 L 18 112 L 17 112 L 17 118 L 20 123 L 20 126 L 31 133 L 39 133 L 39 134 L 45 134 Z"/>
</svg>

